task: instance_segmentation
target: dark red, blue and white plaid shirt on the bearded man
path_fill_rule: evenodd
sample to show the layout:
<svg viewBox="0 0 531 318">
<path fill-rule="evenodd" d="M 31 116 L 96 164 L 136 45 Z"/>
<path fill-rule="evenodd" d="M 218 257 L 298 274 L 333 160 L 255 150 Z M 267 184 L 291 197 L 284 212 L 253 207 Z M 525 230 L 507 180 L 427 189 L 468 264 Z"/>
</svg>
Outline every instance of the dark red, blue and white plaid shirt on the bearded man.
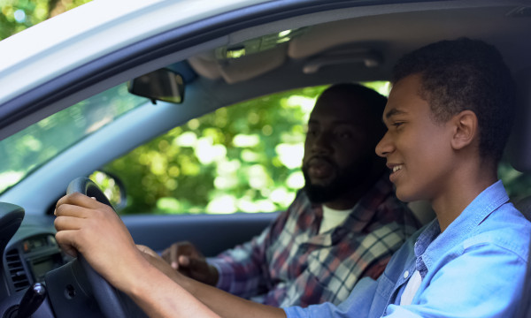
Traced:
<svg viewBox="0 0 531 318">
<path fill-rule="evenodd" d="M 300 191 L 258 237 L 209 259 L 219 271 L 217 287 L 276 307 L 339 304 L 361 277 L 380 276 L 419 228 L 411 210 L 396 199 L 389 174 L 342 225 L 319 234 L 321 219 L 321 205 Z"/>
</svg>

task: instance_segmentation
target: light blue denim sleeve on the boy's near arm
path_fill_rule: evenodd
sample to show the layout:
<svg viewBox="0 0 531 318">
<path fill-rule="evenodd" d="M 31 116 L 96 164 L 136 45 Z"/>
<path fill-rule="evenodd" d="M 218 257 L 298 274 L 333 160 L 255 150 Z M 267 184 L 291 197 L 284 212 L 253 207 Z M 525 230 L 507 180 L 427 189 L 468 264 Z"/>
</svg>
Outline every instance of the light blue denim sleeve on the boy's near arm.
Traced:
<svg viewBox="0 0 531 318">
<path fill-rule="evenodd" d="M 389 305 L 385 317 L 512 317 L 527 261 L 503 246 L 470 246 L 423 282 L 412 305 Z M 522 282 L 522 284 L 514 284 Z"/>
</svg>

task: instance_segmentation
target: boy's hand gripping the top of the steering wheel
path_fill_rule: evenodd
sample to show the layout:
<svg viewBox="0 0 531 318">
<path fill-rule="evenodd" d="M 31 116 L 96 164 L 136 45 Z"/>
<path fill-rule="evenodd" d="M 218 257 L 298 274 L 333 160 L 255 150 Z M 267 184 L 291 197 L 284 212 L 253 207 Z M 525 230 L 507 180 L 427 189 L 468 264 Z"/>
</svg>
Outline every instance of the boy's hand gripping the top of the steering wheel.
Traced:
<svg viewBox="0 0 531 318">
<path fill-rule="evenodd" d="M 55 211 L 56 239 L 65 253 L 83 254 L 100 275 L 122 291 L 149 266 L 114 210 L 81 193 L 65 195 Z M 131 280 L 131 282 L 129 282 Z"/>
</svg>

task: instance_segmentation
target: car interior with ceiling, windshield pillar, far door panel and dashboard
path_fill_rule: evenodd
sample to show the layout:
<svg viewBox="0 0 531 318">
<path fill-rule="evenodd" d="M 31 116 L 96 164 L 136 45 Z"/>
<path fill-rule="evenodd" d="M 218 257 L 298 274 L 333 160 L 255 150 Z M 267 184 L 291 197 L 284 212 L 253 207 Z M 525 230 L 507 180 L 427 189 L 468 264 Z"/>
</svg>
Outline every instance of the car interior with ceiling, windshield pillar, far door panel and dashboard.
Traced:
<svg viewBox="0 0 531 318">
<path fill-rule="evenodd" d="M 4 317 L 15 317 L 28 288 L 44 281 L 49 296 L 32 317 L 89 317 L 97 313 L 93 307 L 98 306 L 107 317 L 135 316 L 127 311 L 134 309 L 112 311 L 111 307 L 132 306 L 126 300 L 103 305 L 105 295 L 97 300 L 93 292 L 74 297 L 76 292 L 84 293 L 80 291 L 83 286 L 101 286 L 88 283 L 92 278 L 78 285 L 71 283 L 78 279 L 77 274 L 49 275 L 73 261 L 55 241 L 50 213 L 75 178 L 89 176 L 192 118 L 237 102 L 299 87 L 389 80 L 399 57 L 430 42 L 465 36 L 489 42 L 501 51 L 517 79 L 519 93 L 519 116 L 504 160 L 515 169 L 511 180 L 527 178 L 531 171 L 531 128 L 527 124 L 531 117 L 531 42 L 526 40 L 531 38 L 531 2 L 273 1 L 214 18 L 154 34 L 0 104 L 2 145 L 14 133 L 60 110 L 113 87 L 136 83 L 138 88 L 142 76 L 155 81 L 146 75 L 164 72 L 158 85 L 135 91 L 143 97 L 134 109 L 62 146 L 58 154 L 28 170 L 24 178 L 0 193 L 4 282 L 0 313 Z M 179 76 L 174 78 L 173 74 Z M 169 99 L 167 93 L 154 92 L 168 79 L 175 80 L 168 87 L 173 92 Z M 10 151 L 0 146 L 0 156 Z M 529 218 L 531 183 L 526 182 L 519 183 L 519 193 L 512 199 Z M 422 223 L 434 217 L 427 202 L 411 202 L 410 206 Z M 161 252 L 175 241 L 189 240 L 206 256 L 213 256 L 257 235 L 275 216 L 146 214 L 121 218 L 137 244 Z M 81 269 L 83 266 L 76 263 L 66 270 L 89 271 Z M 522 317 L 528 312 L 530 284 L 527 282 L 527 292 L 522 295 Z"/>
</svg>

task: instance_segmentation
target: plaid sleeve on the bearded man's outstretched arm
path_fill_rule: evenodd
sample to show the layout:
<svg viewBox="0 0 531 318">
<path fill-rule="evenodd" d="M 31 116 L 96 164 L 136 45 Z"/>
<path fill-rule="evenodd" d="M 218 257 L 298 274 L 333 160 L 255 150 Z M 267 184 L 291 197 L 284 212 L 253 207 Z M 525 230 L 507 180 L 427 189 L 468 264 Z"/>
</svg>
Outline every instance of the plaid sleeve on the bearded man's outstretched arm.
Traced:
<svg viewBox="0 0 531 318">
<path fill-rule="evenodd" d="M 235 246 L 208 262 L 218 269 L 218 287 L 243 298 L 266 292 L 269 282 L 266 250 L 278 237 L 289 211 L 278 216 L 260 235 L 240 246 Z"/>
</svg>

